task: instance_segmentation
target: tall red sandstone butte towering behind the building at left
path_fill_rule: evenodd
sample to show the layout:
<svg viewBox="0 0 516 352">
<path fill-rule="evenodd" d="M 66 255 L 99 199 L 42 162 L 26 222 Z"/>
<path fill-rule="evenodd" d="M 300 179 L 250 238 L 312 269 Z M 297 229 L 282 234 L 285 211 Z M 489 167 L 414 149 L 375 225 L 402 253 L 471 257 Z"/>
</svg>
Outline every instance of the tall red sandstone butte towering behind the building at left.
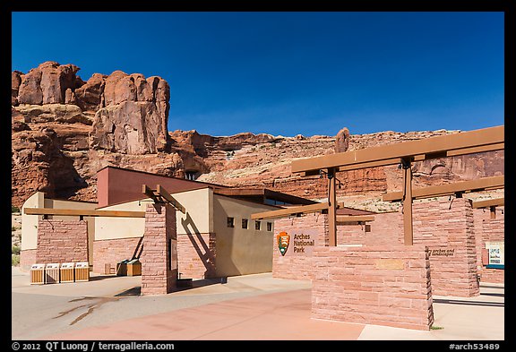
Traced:
<svg viewBox="0 0 516 352">
<path fill-rule="evenodd" d="M 47 62 L 12 73 L 16 205 L 37 190 L 93 200 L 95 167 L 108 164 L 170 176 L 182 172 L 178 155 L 166 152 L 168 82 L 121 71 L 95 73 L 83 82 L 78 71 L 73 64 Z"/>
</svg>

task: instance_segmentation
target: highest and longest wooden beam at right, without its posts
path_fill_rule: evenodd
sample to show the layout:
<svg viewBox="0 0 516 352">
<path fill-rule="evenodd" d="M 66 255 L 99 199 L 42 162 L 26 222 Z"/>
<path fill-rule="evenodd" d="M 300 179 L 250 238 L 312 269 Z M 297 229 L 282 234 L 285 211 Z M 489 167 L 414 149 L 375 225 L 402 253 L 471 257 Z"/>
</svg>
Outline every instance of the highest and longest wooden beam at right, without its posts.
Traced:
<svg viewBox="0 0 516 352">
<path fill-rule="evenodd" d="M 298 159 L 291 163 L 293 173 L 311 172 L 330 167 L 345 167 L 383 160 L 375 166 L 391 165 L 393 159 L 426 155 L 427 158 L 457 156 L 471 152 L 502 150 L 504 148 L 504 126 L 495 126 L 469 132 L 446 134 L 417 141 L 400 142 L 350 150 L 320 157 Z M 474 150 L 474 151 L 473 151 Z M 445 154 L 443 154 L 445 153 Z M 362 167 L 357 167 L 362 168 Z"/>
</svg>

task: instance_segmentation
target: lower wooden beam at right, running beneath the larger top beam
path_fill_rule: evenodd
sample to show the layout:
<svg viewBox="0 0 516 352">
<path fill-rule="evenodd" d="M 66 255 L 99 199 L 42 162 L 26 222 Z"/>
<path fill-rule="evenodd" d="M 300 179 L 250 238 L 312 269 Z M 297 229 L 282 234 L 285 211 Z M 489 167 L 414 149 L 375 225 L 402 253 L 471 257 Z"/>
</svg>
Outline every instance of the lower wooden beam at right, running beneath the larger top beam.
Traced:
<svg viewBox="0 0 516 352">
<path fill-rule="evenodd" d="M 412 190 L 413 199 L 439 197 L 455 193 L 478 192 L 486 189 L 500 189 L 504 187 L 504 176 L 478 178 L 477 180 L 455 182 L 447 185 L 432 185 Z M 382 195 L 383 202 L 399 202 L 403 199 L 403 192 L 390 192 Z"/>
</svg>

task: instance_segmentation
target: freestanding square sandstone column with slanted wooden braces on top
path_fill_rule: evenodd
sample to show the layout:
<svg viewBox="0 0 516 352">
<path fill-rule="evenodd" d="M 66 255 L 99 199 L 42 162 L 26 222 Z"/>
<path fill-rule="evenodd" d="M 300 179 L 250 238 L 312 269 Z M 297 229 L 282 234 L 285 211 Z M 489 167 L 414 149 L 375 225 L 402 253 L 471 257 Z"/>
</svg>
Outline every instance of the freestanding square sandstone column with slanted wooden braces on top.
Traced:
<svg viewBox="0 0 516 352">
<path fill-rule="evenodd" d="M 176 209 L 168 204 L 148 204 L 140 257 L 142 295 L 164 295 L 176 288 Z"/>
</svg>

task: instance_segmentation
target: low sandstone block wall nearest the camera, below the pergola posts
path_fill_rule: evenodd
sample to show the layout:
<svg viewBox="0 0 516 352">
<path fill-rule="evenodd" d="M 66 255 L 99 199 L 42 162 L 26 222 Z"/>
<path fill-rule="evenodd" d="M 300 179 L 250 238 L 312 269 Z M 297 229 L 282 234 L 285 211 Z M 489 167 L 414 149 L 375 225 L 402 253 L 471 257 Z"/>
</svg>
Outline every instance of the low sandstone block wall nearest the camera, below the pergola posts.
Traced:
<svg viewBox="0 0 516 352">
<path fill-rule="evenodd" d="M 317 247 L 312 317 L 428 331 L 434 322 L 424 245 Z"/>
</svg>

